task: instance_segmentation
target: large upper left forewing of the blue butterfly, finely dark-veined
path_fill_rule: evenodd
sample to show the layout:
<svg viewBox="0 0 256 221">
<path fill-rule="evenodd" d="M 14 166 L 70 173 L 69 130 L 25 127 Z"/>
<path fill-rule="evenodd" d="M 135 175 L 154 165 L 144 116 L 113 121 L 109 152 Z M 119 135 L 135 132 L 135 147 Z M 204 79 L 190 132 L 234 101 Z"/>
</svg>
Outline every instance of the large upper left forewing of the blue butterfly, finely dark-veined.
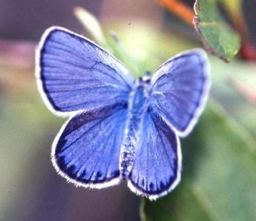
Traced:
<svg viewBox="0 0 256 221">
<path fill-rule="evenodd" d="M 127 103 L 134 78 L 116 58 L 67 29 L 45 31 L 36 58 L 38 88 L 59 115 Z"/>
</svg>

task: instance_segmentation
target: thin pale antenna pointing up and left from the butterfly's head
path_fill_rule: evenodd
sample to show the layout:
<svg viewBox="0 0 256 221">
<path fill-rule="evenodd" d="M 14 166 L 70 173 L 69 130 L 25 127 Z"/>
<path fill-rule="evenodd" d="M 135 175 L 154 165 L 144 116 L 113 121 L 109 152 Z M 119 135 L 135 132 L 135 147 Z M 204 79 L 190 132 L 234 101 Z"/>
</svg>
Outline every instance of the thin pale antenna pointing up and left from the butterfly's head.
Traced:
<svg viewBox="0 0 256 221">
<path fill-rule="evenodd" d="M 109 35 L 114 39 L 116 45 L 117 45 L 117 49 L 119 50 L 119 53 L 122 56 L 122 60 L 124 62 L 127 62 L 127 64 L 133 69 L 134 74 L 137 76 L 140 76 L 140 71 L 137 68 L 136 64 L 133 62 L 133 59 L 130 58 L 130 56 L 128 55 L 128 53 L 126 52 L 126 50 L 124 49 L 123 45 L 120 42 L 119 37 L 116 35 L 116 32 L 114 32 L 113 30 L 109 31 Z"/>
</svg>

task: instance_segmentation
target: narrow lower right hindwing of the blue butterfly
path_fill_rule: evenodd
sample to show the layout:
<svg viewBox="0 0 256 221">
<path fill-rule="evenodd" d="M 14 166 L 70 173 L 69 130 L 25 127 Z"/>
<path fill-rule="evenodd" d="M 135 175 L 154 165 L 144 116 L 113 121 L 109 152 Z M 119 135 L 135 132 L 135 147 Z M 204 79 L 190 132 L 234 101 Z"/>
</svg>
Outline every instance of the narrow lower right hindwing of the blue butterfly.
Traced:
<svg viewBox="0 0 256 221">
<path fill-rule="evenodd" d="M 149 199 L 166 195 L 180 181 L 179 137 L 157 113 L 149 111 L 143 120 L 140 142 L 128 186 Z"/>
</svg>

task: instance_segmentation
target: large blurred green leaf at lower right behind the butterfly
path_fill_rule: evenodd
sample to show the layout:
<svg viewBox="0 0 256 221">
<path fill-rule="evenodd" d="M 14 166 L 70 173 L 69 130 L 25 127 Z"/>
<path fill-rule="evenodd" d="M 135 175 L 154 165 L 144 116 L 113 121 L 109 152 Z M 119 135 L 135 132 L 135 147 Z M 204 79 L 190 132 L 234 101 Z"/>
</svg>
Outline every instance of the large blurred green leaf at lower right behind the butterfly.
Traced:
<svg viewBox="0 0 256 221">
<path fill-rule="evenodd" d="M 180 185 L 156 202 L 143 200 L 142 219 L 256 220 L 255 148 L 250 135 L 211 103 L 182 140 Z"/>
</svg>

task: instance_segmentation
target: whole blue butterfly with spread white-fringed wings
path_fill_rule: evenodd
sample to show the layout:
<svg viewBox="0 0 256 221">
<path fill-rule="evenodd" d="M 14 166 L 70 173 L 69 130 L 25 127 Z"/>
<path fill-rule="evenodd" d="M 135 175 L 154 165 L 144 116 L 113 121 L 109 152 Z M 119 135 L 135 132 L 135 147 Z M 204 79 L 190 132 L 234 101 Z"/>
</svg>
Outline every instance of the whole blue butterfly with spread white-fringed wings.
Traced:
<svg viewBox="0 0 256 221">
<path fill-rule="evenodd" d="M 180 53 L 152 78 L 135 80 L 100 46 L 54 26 L 37 49 L 36 78 L 48 108 L 70 116 L 51 152 L 68 182 L 100 189 L 127 180 L 150 200 L 178 185 L 179 137 L 194 128 L 209 91 L 203 50 Z"/>
</svg>

